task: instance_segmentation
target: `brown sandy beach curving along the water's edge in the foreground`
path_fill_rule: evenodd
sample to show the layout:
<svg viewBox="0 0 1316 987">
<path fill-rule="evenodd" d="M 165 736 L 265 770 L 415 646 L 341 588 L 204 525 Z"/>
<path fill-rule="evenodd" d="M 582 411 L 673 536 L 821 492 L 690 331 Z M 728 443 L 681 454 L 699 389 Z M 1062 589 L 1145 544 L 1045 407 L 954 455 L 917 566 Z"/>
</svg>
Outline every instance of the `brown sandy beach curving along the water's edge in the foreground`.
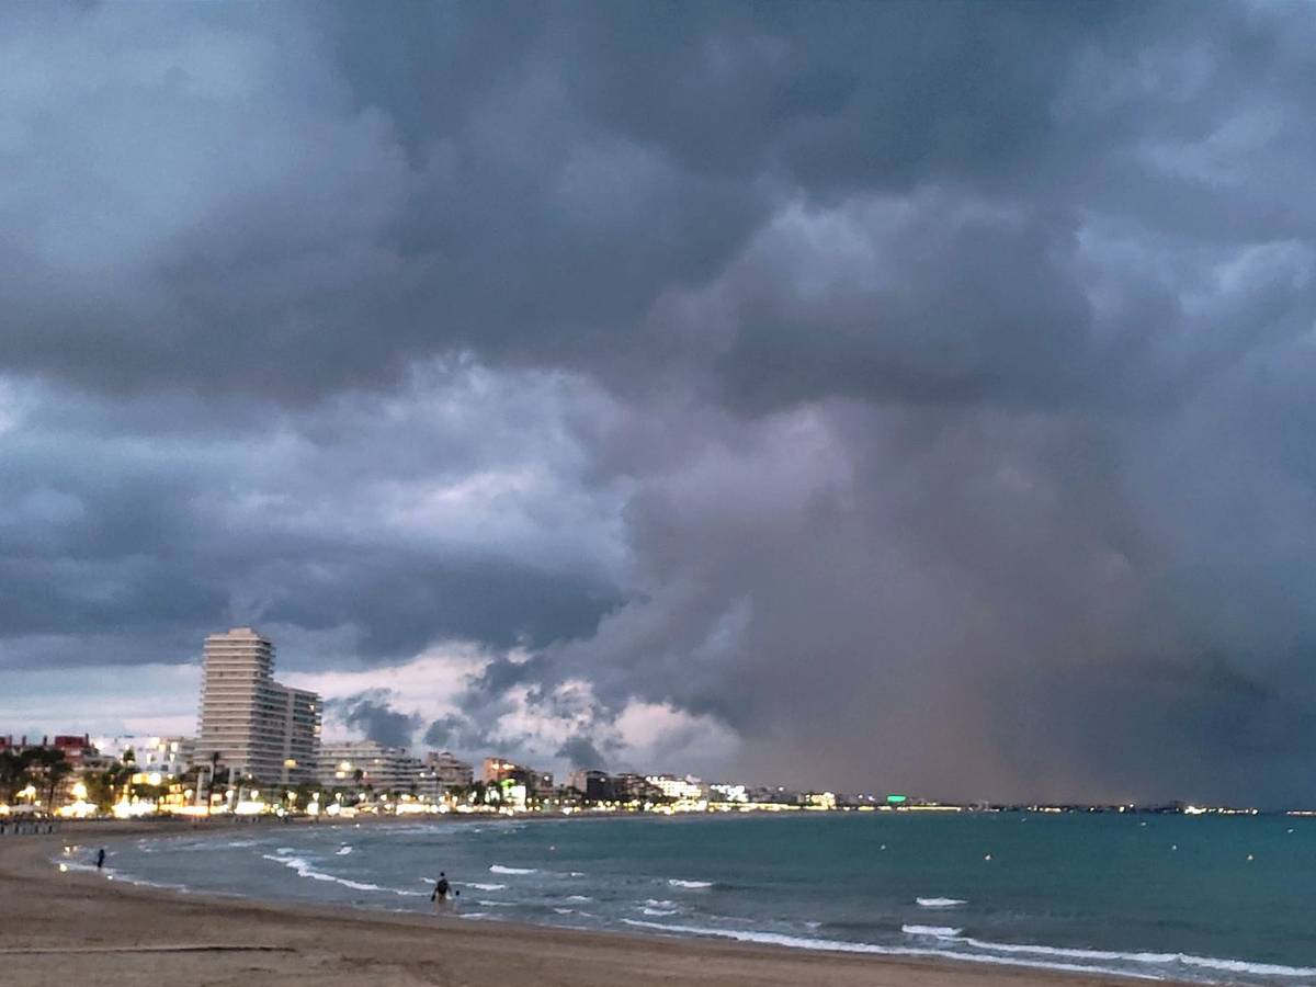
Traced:
<svg viewBox="0 0 1316 987">
<path fill-rule="evenodd" d="M 216 826 L 218 830 L 220 828 Z M 1042 984 L 1128 983 L 1046 971 L 801 953 L 183 895 L 62 874 L 66 844 L 142 828 L 0 840 L 0 978 L 41 984 Z M 159 834 L 163 826 L 145 832 Z M 193 833 L 188 826 L 179 832 Z M 232 833 L 228 826 L 224 833 Z"/>
</svg>

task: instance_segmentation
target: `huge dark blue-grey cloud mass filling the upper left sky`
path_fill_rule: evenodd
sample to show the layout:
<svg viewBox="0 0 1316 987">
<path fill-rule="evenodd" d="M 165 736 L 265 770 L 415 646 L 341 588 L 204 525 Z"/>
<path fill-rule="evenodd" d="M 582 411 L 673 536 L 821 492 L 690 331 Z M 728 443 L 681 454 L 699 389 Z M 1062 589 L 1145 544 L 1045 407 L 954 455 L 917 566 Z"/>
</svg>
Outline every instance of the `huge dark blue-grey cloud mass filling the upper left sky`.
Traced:
<svg viewBox="0 0 1316 987">
<path fill-rule="evenodd" d="M 57 41 L 83 82 L 39 87 L 43 62 L 9 61 L 33 83 L 13 107 L 32 212 L 8 217 L 30 240 L 4 258 L 0 359 L 290 400 L 462 347 L 621 383 L 626 350 L 670 354 L 636 316 L 708 283 L 783 196 L 996 186 L 1032 166 L 1074 54 L 1101 37 L 1088 21 L 1121 20 L 974 4 L 159 13 L 16 18 L 16 46 Z M 151 70 L 129 78 L 114 66 L 134 26 Z M 190 62 L 197 49 L 218 58 Z M 41 187 L 57 162 L 113 190 L 99 225 Z"/>
</svg>

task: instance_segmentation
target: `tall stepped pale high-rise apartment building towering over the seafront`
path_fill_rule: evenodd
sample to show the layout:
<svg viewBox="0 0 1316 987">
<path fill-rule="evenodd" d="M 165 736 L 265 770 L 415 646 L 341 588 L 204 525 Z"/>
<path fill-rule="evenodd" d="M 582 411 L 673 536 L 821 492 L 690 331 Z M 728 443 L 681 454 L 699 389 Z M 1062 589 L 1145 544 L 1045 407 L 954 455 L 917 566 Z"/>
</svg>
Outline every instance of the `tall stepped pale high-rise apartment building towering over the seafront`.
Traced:
<svg viewBox="0 0 1316 987">
<path fill-rule="evenodd" d="M 265 783 L 312 782 L 320 746 L 320 696 L 274 680 L 274 645 L 251 628 L 205 638 L 196 763 Z"/>
</svg>

